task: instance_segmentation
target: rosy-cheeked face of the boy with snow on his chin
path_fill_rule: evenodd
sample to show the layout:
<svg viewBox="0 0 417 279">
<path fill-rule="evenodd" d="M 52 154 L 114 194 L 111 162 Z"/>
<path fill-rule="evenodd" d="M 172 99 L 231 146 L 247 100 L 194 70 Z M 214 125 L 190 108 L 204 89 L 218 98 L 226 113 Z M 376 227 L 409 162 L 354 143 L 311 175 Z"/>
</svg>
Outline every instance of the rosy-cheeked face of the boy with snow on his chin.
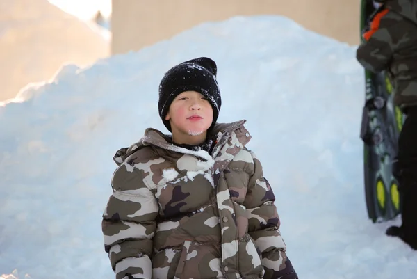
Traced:
<svg viewBox="0 0 417 279">
<path fill-rule="evenodd" d="M 206 139 L 213 122 L 213 108 L 202 94 L 186 91 L 172 101 L 165 120 L 170 121 L 174 141 L 198 144 Z"/>
</svg>

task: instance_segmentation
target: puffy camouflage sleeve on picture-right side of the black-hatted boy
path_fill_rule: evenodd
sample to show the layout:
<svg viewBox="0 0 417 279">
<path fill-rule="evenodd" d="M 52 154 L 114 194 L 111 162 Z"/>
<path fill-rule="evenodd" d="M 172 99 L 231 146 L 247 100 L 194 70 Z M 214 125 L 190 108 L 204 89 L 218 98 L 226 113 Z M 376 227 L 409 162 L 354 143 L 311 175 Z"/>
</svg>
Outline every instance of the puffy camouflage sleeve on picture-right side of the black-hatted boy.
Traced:
<svg viewBox="0 0 417 279">
<path fill-rule="evenodd" d="M 254 239 L 265 269 L 263 278 L 297 279 L 291 261 L 286 256 L 286 244 L 279 232 L 279 216 L 275 196 L 268 180 L 263 177 L 261 162 L 251 151 L 254 174 L 250 177 L 243 205 L 247 209 L 249 234 Z"/>
</svg>

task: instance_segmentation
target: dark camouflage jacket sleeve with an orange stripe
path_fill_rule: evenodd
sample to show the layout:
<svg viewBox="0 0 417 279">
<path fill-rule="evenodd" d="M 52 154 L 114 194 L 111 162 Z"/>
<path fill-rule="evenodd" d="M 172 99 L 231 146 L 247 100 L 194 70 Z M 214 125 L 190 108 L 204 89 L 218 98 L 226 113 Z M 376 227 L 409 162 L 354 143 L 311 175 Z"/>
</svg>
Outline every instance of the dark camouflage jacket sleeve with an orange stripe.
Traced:
<svg viewBox="0 0 417 279">
<path fill-rule="evenodd" d="M 382 9 L 372 19 L 370 29 L 363 33 L 357 49 L 357 61 L 371 72 L 381 72 L 389 66 L 393 54 L 404 40 L 404 19 L 388 9 Z M 407 42 L 407 40 L 405 40 Z"/>
</svg>

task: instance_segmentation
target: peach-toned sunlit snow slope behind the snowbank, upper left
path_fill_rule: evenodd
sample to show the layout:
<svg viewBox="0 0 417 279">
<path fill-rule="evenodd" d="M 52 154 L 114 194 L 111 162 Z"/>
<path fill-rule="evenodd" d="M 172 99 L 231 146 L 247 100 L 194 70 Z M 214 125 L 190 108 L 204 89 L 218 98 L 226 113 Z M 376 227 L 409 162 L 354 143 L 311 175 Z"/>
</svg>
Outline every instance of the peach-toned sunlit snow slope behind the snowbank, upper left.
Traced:
<svg viewBox="0 0 417 279">
<path fill-rule="evenodd" d="M 0 1 L 0 102 L 28 83 L 51 79 L 63 63 L 85 67 L 110 54 L 110 31 L 47 0 Z"/>
</svg>

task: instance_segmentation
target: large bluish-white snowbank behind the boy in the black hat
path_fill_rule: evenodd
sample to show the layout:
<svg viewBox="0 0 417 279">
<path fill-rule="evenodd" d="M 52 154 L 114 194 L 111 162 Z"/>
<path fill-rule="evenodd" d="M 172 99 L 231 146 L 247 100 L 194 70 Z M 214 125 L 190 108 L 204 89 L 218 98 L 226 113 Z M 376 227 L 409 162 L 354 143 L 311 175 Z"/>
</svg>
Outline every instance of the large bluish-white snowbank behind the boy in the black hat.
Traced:
<svg viewBox="0 0 417 279">
<path fill-rule="evenodd" d="M 161 77 L 208 56 L 218 63 L 219 122 L 247 119 L 300 278 L 415 279 L 417 253 L 384 235 L 400 219 L 367 217 L 355 50 L 284 17 L 234 17 L 91 67 L 67 65 L 27 88 L 25 102 L 0 106 L 0 274 L 114 278 L 101 234 L 113 154 L 147 127 L 167 132 Z"/>
</svg>

